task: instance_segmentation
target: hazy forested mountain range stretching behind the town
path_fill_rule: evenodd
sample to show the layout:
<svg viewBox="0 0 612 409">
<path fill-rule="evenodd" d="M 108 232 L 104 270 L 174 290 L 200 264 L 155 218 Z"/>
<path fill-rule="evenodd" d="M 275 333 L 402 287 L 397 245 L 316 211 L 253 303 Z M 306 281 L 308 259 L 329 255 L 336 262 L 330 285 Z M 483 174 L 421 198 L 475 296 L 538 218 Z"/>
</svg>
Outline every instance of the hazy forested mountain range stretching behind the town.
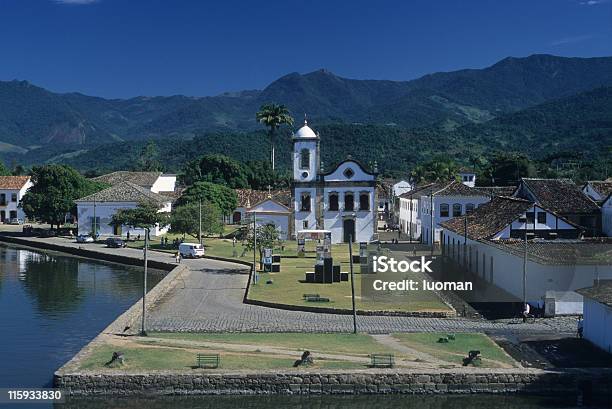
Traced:
<svg viewBox="0 0 612 409">
<path fill-rule="evenodd" d="M 483 69 L 411 81 L 347 79 L 327 70 L 291 73 L 263 90 L 212 97 L 104 99 L 7 81 L 0 82 L 0 153 L 24 163 L 58 155 L 67 161 L 105 144 L 251 132 L 261 129 L 255 112 L 267 102 L 287 105 L 296 126 L 307 113 L 313 124 L 377 126 L 379 136 L 385 127 L 397 128 L 396 135 L 432 138 L 430 147 L 443 135 L 483 152 L 544 154 L 587 143 L 601 149 L 610 146 L 611 87 L 612 57 L 551 55 L 509 57 Z M 346 142 L 341 134 L 335 132 L 334 144 Z"/>
</svg>

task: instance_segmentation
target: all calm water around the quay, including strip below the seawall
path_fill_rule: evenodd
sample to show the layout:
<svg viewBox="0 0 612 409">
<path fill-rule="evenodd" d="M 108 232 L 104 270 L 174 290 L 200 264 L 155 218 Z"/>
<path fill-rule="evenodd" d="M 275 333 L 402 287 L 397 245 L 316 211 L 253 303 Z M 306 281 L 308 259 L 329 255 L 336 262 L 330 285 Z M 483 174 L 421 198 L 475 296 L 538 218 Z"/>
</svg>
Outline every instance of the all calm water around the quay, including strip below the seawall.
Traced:
<svg viewBox="0 0 612 409">
<path fill-rule="evenodd" d="M 154 285 L 163 277 L 153 272 Z M 142 270 L 0 245 L 0 387 L 49 387 L 53 372 L 139 297 Z M 536 409 L 574 398 L 328 396 L 72 398 L 58 409 Z M 1 406 L 2 407 L 6 406 Z M 45 408 L 47 404 L 18 405 Z M 609 408 L 609 404 L 596 405 Z"/>
</svg>

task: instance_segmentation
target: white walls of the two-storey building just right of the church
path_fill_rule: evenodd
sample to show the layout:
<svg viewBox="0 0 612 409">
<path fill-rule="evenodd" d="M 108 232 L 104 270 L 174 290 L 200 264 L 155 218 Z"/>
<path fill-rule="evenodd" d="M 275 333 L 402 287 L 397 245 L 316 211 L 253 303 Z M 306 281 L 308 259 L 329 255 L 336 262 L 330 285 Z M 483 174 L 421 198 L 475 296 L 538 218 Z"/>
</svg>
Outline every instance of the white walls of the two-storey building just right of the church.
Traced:
<svg viewBox="0 0 612 409">
<path fill-rule="evenodd" d="M 480 206 L 483 203 L 487 203 L 491 198 L 489 196 L 434 196 L 433 197 L 433 226 L 435 229 L 434 242 L 440 242 L 440 232 L 442 228 L 440 223 L 453 218 L 453 205 L 461 205 L 461 214 L 465 214 L 465 208 L 467 204 L 473 204 L 474 208 Z M 440 205 L 448 204 L 449 213 L 448 217 L 440 216 Z M 421 242 L 431 244 L 431 197 L 421 196 L 419 201 L 419 219 L 421 220 Z"/>
</svg>

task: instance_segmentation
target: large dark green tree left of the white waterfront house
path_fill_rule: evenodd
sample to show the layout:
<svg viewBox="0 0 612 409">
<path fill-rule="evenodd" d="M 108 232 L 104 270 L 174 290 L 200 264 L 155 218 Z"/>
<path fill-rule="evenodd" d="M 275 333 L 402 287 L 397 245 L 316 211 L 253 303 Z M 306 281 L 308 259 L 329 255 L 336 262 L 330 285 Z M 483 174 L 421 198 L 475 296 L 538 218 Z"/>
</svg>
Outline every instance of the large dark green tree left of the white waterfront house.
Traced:
<svg viewBox="0 0 612 409">
<path fill-rule="evenodd" d="M 32 183 L 20 205 L 29 218 L 49 223 L 51 228 L 59 227 L 67 213 L 76 214 L 76 199 L 106 187 L 67 165 L 56 164 L 32 168 Z"/>
</svg>

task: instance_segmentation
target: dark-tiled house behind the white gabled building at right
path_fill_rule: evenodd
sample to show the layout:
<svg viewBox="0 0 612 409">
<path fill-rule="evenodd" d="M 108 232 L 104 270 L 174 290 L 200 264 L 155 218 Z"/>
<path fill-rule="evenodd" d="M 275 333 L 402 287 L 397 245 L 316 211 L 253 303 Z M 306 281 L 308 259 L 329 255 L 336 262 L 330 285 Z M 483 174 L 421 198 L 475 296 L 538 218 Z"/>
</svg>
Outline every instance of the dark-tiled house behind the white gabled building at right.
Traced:
<svg viewBox="0 0 612 409">
<path fill-rule="evenodd" d="M 587 236 L 601 233 L 601 210 L 570 179 L 522 178 L 513 196 L 536 202 L 581 226 Z"/>
</svg>

